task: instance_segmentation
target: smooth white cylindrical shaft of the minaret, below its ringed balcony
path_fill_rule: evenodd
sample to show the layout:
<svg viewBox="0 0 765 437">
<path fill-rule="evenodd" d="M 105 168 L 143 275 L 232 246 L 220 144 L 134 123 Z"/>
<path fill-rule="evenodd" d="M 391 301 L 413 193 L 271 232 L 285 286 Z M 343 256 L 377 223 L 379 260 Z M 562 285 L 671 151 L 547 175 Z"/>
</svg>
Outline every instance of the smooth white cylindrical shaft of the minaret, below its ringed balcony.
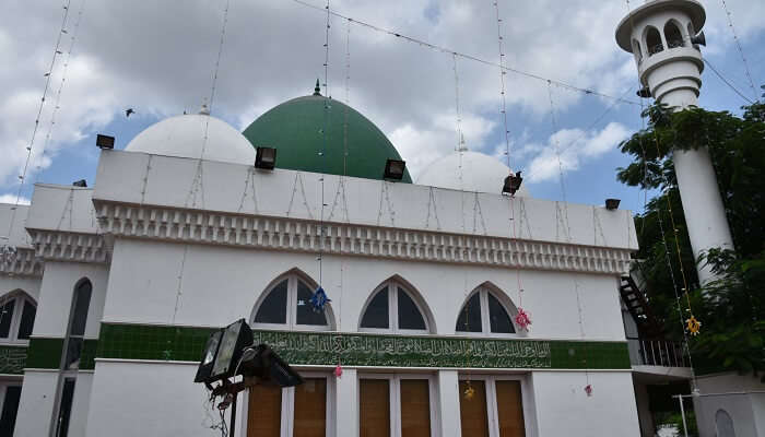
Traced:
<svg viewBox="0 0 765 437">
<path fill-rule="evenodd" d="M 680 110 L 698 103 L 695 94 L 687 90 L 668 93 L 661 102 L 676 106 Z M 730 235 L 709 151 L 706 147 L 676 150 L 673 161 L 693 256 L 698 259 L 699 255 L 713 247 L 733 249 L 733 238 Z M 670 226 L 667 226 L 667 229 L 672 232 Z M 696 270 L 702 284 L 714 279 L 708 265 L 701 263 Z"/>
</svg>

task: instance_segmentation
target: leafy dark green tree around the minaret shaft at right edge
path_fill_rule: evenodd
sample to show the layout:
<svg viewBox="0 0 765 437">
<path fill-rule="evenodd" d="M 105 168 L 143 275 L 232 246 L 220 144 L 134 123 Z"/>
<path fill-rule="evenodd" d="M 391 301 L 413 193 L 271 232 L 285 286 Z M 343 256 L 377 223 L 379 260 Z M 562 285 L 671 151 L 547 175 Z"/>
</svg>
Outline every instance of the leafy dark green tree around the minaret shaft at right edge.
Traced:
<svg viewBox="0 0 765 437">
<path fill-rule="evenodd" d="M 690 316 L 685 298 L 678 312 L 673 287 L 676 283 L 678 293 L 684 293 L 684 272 L 691 307 L 703 323 L 702 333 L 691 340 L 694 365 L 702 371 L 757 375 L 765 370 L 765 105 L 742 109 L 735 116 L 701 108 L 647 108 L 647 128 L 620 144 L 633 163 L 617 169 L 617 179 L 656 193 L 635 217 L 640 245 L 636 263 L 667 335 L 680 340 L 681 323 Z M 711 249 L 695 260 L 672 152 L 698 147 L 709 151 L 735 250 Z M 701 288 L 696 262 L 709 263 L 719 279 Z"/>
</svg>

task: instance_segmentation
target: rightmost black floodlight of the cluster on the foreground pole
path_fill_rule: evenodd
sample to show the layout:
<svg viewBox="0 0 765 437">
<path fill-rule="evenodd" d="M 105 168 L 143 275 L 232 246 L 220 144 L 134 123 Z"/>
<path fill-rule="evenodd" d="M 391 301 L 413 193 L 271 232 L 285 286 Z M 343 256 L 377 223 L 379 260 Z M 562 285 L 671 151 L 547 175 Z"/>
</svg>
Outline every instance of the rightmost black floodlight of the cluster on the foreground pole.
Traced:
<svg viewBox="0 0 765 437">
<path fill-rule="evenodd" d="M 294 387 L 303 383 L 303 378 L 276 355 L 268 344 L 248 347 L 242 355 L 237 375 L 258 377 L 280 387 Z"/>
</svg>

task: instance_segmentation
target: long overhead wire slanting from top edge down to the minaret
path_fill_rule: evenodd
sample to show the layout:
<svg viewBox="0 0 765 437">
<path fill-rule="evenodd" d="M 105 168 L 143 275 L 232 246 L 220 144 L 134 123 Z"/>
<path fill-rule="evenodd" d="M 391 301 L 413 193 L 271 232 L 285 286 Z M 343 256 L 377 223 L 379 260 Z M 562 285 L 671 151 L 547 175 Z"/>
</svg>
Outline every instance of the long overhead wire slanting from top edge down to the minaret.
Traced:
<svg viewBox="0 0 765 437">
<path fill-rule="evenodd" d="M 294 1 L 295 3 L 302 4 L 302 5 L 306 7 L 306 8 L 315 9 L 315 10 L 318 10 L 318 11 L 325 11 L 325 10 L 326 10 L 326 8 L 317 7 L 317 5 L 315 5 L 315 4 L 311 4 L 311 3 L 306 2 L 306 1 L 304 1 L 304 0 L 292 0 L 292 1 Z M 603 97 L 603 98 L 615 99 L 615 101 L 619 101 L 619 102 L 622 102 L 622 103 L 625 103 L 625 104 L 629 104 L 629 105 L 639 105 L 639 104 L 638 104 L 637 102 L 635 102 L 635 101 L 631 101 L 631 99 L 626 99 L 626 98 L 621 98 L 621 97 L 615 97 L 615 96 L 612 96 L 612 95 L 609 95 L 609 94 L 605 94 L 605 93 L 602 93 L 602 92 L 599 92 L 599 91 L 595 91 L 595 90 L 591 90 L 591 88 L 586 88 L 586 87 L 581 87 L 581 86 L 572 85 L 572 84 L 568 84 L 568 83 L 566 83 L 566 82 L 562 82 L 562 81 L 554 80 L 554 79 L 550 79 L 550 78 L 544 78 L 544 76 L 542 76 L 542 75 L 540 75 L 540 74 L 536 74 L 536 73 L 531 73 L 531 72 L 528 72 L 528 71 L 519 70 L 519 69 L 517 69 L 517 68 L 507 67 L 507 66 L 502 66 L 502 64 L 499 64 L 499 63 L 492 62 L 492 61 L 489 61 L 489 60 L 486 60 L 486 59 L 479 58 L 478 56 L 474 56 L 474 55 L 468 55 L 468 54 L 463 54 L 463 52 L 460 52 L 460 51 L 457 51 L 457 50 L 452 50 L 452 49 L 447 48 L 447 47 L 444 47 L 444 46 L 439 46 L 439 45 L 436 45 L 436 44 L 433 44 L 433 43 L 428 43 L 428 42 L 425 42 L 425 40 L 423 40 L 423 39 L 419 39 L 419 38 L 415 38 L 415 37 L 412 37 L 412 36 L 408 36 L 408 35 L 401 34 L 401 33 L 399 33 L 399 32 L 395 32 L 395 31 L 387 29 L 387 28 L 385 28 L 385 27 L 381 27 L 381 26 L 378 26 L 378 25 L 375 25 L 375 24 L 372 24 L 372 23 L 368 23 L 368 22 L 364 22 L 364 21 L 361 21 L 361 20 L 356 20 L 356 19 L 350 17 L 350 16 L 346 16 L 346 15 L 344 15 L 344 14 L 341 14 L 341 13 L 336 12 L 336 11 L 332 11 L 332 10 L 327 10 L 327 11 L 328 11 L 328 13 L 330 13 L 330 14 L 332 14 L 332 15 L 334 15 L 334 16 L 338 16 L 338 17 L 343 19 L 343 20 L 348 20 L 348 21 L 350 21 L 350 22 L 352 22 L 352 23 L 354 23 L 354 24 L 357 24 L 357 25 L 360 25 L 360 26 L 369 28 L 369 29 L 375 31 L 375 32 L 379 32 L 379 33 L 387 34 L 387 35 L 389 35 L 389 36 L 393 36 L 393 37 L 403 39 L 403 40 L 409 42 L 409 43 L 416 44 L 416 45 L 419 45 L 419 46 L 421 46 L 421 47 L 425 47 L 425 48 L 428 48 L 428 49 L 432 49 L 432 50 L 436 50 L 436 51 L 440 51 L 440 52 L 444 52 L 444 54 L 455 54 L 456 56 L 458 56 L 458 57 L 460 57 L 460 58 L 469 59 L 469 60 L 472 60 L 472 61 L 475 61 L 475 62 L 479 62 L 479 63 L 483 63 L 483 64 L 490 66 L 490 67 L 499 68 L 499 69 L 502 69 L 503 71 L 509 71 L 509 72 L 513 72 L 513 73 L 515 73 L 515 74 L 523 75 L 523 76 L 527 76 L 527 78 L 530 78 L 530 79 L 536 79 L 536 80 L 538 80 L 538 81 L 550 82 L 551 84 L 553 84 L 553 85 L 555 85 L 555 86 L 560 86 L 560 87 L 562 87 L 562 88 L 564 88 L 564 90 L 568 90 L 568 91 L 573 91 L 573 92 L 582 93 L 582 94 L 585 94 L 585 95 L 593 95 L 593 96 L 599 96 L 599 97 Z"/>
</svg>

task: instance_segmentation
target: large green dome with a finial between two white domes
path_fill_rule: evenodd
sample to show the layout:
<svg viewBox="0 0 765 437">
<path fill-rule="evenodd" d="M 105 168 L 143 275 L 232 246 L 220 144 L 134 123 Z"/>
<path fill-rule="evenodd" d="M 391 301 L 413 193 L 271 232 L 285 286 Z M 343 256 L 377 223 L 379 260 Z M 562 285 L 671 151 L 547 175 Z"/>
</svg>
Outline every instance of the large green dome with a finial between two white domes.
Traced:
<svg viewBox="0 0 765 437">
<path fill-rule="evenodd" d="M 329 109 L 325 109 L 325 103 Z M 325 126 L 328 126 L 326 139 Z M 321 96 L 318 84 L 314 95 L 271 108 L 243 133 L 254 146 L 275 147 L 279 168 L 382 179 L 386 161 L 401 160 L 393 144 L 372 121 L 350 106 Z M 348 157 L 343 165 L 345 139 Z M 321 151 L 323 157 L 319 155 Z M 412 182 L 409 170 L 402 181 Z"/>
</svg>

